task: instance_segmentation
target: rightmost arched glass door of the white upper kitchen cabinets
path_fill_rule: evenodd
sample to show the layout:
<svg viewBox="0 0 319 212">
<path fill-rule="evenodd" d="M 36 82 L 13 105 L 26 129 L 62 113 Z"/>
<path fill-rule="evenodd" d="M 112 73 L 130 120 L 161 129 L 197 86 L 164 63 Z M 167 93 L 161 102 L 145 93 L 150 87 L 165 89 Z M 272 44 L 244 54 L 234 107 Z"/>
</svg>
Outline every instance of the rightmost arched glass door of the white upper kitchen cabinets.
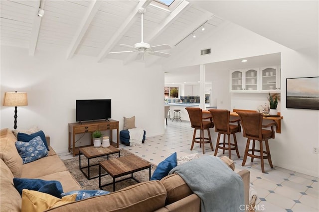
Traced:
<svg viewBox="0 0 319 212">
<path fill-rule="evenodd" d="M 261 91 L 276 92 L 278 91 L 277 80 L 279 74 L 277 67 L 265 67 L 261 69 Z"/>
</svg>

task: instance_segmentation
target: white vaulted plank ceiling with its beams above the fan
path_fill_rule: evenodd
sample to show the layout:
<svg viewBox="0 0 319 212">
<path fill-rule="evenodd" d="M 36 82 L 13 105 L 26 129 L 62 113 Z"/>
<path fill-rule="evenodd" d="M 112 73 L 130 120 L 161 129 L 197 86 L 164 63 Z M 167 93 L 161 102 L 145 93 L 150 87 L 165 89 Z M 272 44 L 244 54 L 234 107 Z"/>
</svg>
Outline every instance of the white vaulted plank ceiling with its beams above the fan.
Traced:
<svg viewBox="0 0 319 212">
<path fill-rule="evenodd" d="M 29 55 L 37 50 L 58 49 L 65 57 L 74 55 L 134 60 L 120 44 L 134 46 L 141 42 L 141 14 L 144 13 L 144 42 L 151 46 L 168 44 L 172 48 L 187 47 L 191 32 L 205 23 L 205 31 L 223 22 L 186 0 L 175 0 L 170 7 L 152 0 L 1 0 L 1 45 L 27 48 Z M 38 15 L 44 10 L 43 17 Z M 195 31 L 195 32 L 197 32 Z M 169 53 L 171 50 L 163 50 Z M 161 58 L 153 56 L 153 60 Z"/>
</svg>

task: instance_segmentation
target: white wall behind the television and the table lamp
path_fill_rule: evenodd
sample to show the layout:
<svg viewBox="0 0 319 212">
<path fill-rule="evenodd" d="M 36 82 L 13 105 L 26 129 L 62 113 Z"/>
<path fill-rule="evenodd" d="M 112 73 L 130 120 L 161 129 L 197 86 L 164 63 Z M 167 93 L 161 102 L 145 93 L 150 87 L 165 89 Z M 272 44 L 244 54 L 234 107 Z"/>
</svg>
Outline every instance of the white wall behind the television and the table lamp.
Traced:
<svg viewBox="0 0 319 212">
<path fill-rule="evenodd" d="M 27 92 L 28 106 L 18 107 L 17 129 L 37 125 L 51 137 L 57 152 L 68 147 L 68 123 L 75 122 L 75 100 L 112 99 L 112 119 L 136 116 L 136 126 L 148 136 L 164 133 L 163 71 L 143 63 L 123 66 L 120 60 L 105 60 L 65 52 L 36 51 L 1 46 L 1 102 L 4 92 Z M 1 128 L 13 129 L 14 107 L 2 106 Z M 154 112 L 161 111 L 162 112 Z"/>
</svg>

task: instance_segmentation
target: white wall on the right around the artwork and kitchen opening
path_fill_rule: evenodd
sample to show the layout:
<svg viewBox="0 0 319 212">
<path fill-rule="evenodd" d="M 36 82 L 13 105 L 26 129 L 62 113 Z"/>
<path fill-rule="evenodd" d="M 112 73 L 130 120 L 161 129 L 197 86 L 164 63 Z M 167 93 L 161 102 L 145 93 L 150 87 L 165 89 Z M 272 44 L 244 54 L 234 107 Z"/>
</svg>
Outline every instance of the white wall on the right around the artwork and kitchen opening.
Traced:
<svg viewBox="0 0 319 212">
<path fill-rule="evenodd" d="M 212 53 L 205 57 L 199 56 L 200 49 L 204 48 L 211 48 Z M 313 154 L 312 149 L 319 146 L 319 111 L 286 108 L 286 78 L 319 76 L 318 46 L 294 51 L 229 23 L 221 26 L 205 41 L 195 42 L 192 51 L 185 51 L 182 55 L 171 57 L 165 67 L 168 70 L 168 67 L 194 66 L 277 52 L 281 52 L 282 89 L 279 110 L 284 119 L 281 134 L 276 133 L 276 138 L 269 144 L 273 164 L 318 177 L 319 155 Z M 214 93 L 217 95 L 218 108 L 232 109 L 230 107 L 233 105 L 243 109 L 256 109 L 267 101 L 267 94 L 230 94 L 228 72 L 221 74 L 218 70 L 214 70 L 213 76 L 214 78 L 206 76 L 206 81 L 213 81 L 213 90 L 217 89 Z M 228 99 L 230 104 L 225 99 Z M 224 100 L 224 106 L 220 104 L 222 100 Z M 216 134 L 213 133 L 213 136 Z M 240 135 L 237 137 L 239 137 L 240 154 L 243 155 L 246 141 Z"/>
</svg>

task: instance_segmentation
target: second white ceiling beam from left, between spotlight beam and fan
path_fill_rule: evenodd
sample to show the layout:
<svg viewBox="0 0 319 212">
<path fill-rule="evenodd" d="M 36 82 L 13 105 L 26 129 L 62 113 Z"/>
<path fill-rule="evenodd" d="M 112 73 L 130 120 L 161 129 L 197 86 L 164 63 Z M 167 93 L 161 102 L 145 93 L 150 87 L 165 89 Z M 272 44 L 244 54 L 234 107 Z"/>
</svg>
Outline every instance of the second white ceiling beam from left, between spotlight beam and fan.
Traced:
<svg viewBox="0 0 319 212">
<path fill-rule="evenodd" d="M 78 48 L 85 32 L 89 28 L 90 23 L 91 23 L 92 19 L 94 18 L 96 12 L 98 11 L 101 3 L 102 3 L 101 0 L 94 0 L 91 2 L 91 5 L 88 7 L 88 9 L 83 17 L 83 20 L 82 20 L 76 34 L 74 35 L 74 38 L 71 42 L 71 45 L 69 46 L 69 49 L 68 49 L 67 55 L 66 55 L 67 59 L 70 59 L 74 55 L 74 52 Z"/>
</svg>

